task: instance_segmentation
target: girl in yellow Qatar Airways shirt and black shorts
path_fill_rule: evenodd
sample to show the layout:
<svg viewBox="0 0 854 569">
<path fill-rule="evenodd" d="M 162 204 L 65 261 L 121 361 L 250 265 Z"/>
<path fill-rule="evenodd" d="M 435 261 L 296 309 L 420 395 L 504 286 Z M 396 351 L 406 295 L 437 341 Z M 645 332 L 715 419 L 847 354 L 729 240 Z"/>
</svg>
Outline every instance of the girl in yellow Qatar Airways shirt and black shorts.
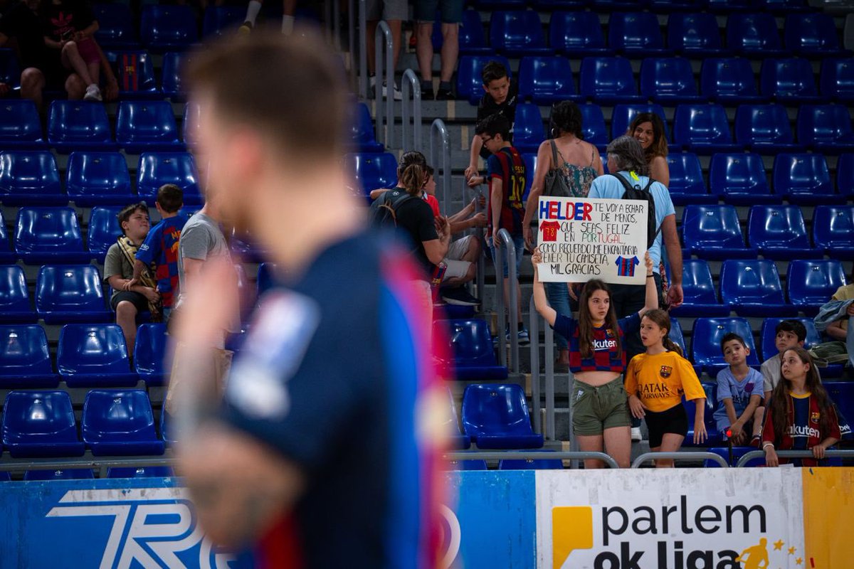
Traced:
<svg viewBox="0 0 854 569">
<path fill-rule="evenodd" d="M 676 452 L 688 430 L 687 414 L 682 406 L 682 394 L 693 400 L 693 442 L 700 444 L 705 432 L 705 391 L 699 384 L 691 363 L 670 334 L 670 316 L 666 311 L 646 311 L 640 320 L 640 340 L 646 353 L 629 362 L 626 373 L 626 392 L 629 410 L 636 418 L 646 418 L 649 427 L 649 447 L 652 452 Z M 658 459 L 655 466 L 673 467 L 672 460 Z"/>
</svg>

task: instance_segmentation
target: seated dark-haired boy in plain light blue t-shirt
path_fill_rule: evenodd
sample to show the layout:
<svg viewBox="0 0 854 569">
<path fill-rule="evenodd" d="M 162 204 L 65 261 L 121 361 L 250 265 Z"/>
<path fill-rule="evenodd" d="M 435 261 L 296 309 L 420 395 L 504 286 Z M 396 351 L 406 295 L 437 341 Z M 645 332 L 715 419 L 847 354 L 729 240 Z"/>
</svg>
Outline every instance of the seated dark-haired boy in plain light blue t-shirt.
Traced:
<svg viewBox="0 0 854 569">
<path fill-rule="evenodd" d="M 729 367 L 717 374 L 717 409 L 713 415 L 717 430 L 724 438 L 732 438 L 734 444 L 745 444 L 749 429 L 750 444 L 758 446 L 765 414 L 762 374 L 747 365 L 750 348 L 739 334 L 725 334 L 721 351 Z"/>
</svg>

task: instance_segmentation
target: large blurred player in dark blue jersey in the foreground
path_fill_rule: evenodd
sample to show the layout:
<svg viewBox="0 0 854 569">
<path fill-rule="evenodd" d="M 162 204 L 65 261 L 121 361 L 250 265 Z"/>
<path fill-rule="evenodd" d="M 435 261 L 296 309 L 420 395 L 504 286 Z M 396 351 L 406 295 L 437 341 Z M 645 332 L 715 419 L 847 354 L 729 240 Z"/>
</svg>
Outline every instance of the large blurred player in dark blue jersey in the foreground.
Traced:
<svg viewBox="0 0 854 569">
<path fill-rule="evenodd" d="M 417 269 L 366 232 L 329 160 L 345 132 L 339 75 L 312 35 L 229 38 L 192 59 L 208 191 L 286 277 L 260 299 L 224 404 L 203 397 L 204 368 L 182 383 L 178 422 L 194 427 L 178 472 L 208 537 L 253 547 L 257 566 L 433 566 L 442 392 L 409 293 Z M 189 283 L 176 322 L 200 363 L 233 308 L 227 270 Z"/>
</svg>

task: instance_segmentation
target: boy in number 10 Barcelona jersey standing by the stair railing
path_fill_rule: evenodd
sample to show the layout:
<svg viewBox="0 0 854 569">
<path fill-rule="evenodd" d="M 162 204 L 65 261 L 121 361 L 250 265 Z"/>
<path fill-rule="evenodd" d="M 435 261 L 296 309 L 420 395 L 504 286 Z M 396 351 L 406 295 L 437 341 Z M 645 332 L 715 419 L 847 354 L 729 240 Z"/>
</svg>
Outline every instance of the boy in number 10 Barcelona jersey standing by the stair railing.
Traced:
<svg viewBox="0 0 854 569">
<path fill-rule="evenodd" d="M 489 200 L 487 204 L 487 235 L 486 244 L 492 253 L 493 263 L 497 263 L 496 255 L 500 246 L 498 232 L 506 229 L 513 239 L 516 250 L 516 282 L 508 278 L 507 257 L 501 259 L 504 267 L 505 305 L 510 307 L 510 294 L 518 298 L 518 340 L 521 345 L 529 343 L 528 330 L 522 323 L 522 289 L 519 287 L 518 271 L 525 251 L 525 241 L 522 233 L 522 220 L 525 215 L 522 195 L 525 192 L 525 163 L 522 154 L 513 148 L 510 142 L 510 122 L 501 114 L 494 114 L 477 124 L 477 137 L 488 149 L 491 156 L 487 160 L 487 175 L 472 177 L 470 184 L 489 183 Z M 512 288 L 511 288 L 512 287 Z M 509 338 L 509 332 L 507 334 Z"/>
</svg>

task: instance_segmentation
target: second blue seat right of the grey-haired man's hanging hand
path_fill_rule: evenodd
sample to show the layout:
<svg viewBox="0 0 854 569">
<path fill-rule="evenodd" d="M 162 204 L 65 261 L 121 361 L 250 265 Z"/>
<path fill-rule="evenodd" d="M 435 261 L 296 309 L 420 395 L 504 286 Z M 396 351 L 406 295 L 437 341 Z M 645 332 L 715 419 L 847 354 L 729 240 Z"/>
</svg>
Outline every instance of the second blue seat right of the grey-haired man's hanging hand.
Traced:
<svg viewBox="0 0 854 569">
<path fill-rule="evenodd" d="M 783 297 L 777 265 L 769 259 L 727 260 L 721 269 L 721 299 L 739 316 L 796 316 Z"/>
</svg>

